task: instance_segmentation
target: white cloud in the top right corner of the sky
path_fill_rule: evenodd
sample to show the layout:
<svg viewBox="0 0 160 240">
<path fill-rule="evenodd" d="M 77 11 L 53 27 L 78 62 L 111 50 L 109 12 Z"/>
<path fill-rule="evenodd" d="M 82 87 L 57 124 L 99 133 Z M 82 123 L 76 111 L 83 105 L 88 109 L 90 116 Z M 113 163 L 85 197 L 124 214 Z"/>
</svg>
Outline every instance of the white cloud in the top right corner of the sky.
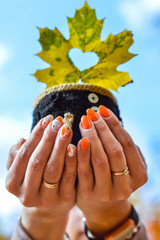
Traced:
<svg viewBox="0 0 160 240">
<path fill-rule="evenodd" d="M 120 11 L 130 27 L 142 29 L 160 13 L 160 0 L 123 0 L 120 3 Z"/>
</svg>

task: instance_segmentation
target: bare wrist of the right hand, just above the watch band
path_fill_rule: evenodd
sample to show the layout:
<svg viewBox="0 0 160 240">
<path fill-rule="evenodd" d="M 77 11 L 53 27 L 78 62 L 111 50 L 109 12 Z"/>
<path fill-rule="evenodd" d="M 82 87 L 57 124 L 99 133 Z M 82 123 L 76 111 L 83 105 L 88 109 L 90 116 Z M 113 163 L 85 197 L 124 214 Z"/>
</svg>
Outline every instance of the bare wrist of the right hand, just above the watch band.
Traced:
<svg viewBox="0 0 160 240">
<path fill-rule="evenodd" d="M 103 236 L 123 224 L 131 212 L 131 204 L 128 200 L 112 202 L 107 208 L 102 207 L 102 211 L 94 211 L 91 214 L 84 213 L 86 224 L 95 236 Z"/>
</svg>

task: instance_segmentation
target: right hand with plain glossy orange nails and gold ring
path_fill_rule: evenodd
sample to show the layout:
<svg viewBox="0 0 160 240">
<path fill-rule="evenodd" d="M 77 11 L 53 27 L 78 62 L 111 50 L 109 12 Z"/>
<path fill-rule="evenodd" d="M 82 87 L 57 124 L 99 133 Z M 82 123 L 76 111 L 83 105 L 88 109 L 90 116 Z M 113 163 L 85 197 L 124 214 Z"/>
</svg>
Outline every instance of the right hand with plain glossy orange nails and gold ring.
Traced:
<svg viewBox="0 0 160 240">
<path fill-rule="evenodd" d="M 88 148 L 87 139 L 78 144 L 77 205 L 95 235 L 128 218 L 128 197 L 147 181 L 146 164 L 132 138 L 110 110 L 101 106 L 99 113 L 89 109 L 82 117 L 80 131 L 89 140 Z M 127 166 L 128 175 L 113 174 Z"/>
</svg>

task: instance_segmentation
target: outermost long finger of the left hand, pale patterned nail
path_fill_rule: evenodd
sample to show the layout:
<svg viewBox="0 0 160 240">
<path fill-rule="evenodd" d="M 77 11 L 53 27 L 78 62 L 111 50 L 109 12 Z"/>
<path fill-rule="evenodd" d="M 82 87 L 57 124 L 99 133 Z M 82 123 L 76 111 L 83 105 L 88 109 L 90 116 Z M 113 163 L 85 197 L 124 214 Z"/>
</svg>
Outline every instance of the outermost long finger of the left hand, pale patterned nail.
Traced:
<svg viewBox="0 0 160 240">
<path fill-rule="evenodd" d="M 20 147 L 6 178 L 6 187 L 10 192 L 19 189 L 22 184 L 29 158 L 40 142 L 46 126 L 52 119 L 52 115 L 41 119 L 26 142 Z"/>
</svg>

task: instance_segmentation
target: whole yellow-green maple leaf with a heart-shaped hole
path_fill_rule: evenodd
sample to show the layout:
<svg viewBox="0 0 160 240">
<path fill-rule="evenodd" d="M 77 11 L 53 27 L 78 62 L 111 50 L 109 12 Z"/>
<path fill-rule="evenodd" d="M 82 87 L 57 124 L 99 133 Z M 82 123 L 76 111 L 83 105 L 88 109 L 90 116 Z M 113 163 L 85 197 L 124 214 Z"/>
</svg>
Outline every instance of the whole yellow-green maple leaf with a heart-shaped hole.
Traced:
<svg viewBox="0 0 160 240">
<path fill-rule="evenodd" d="M 79 79 L 117 91 L 118 87 L 132 82 L 129 74 L 117 71 L 120 64 L 130 60 L 135 54 L 128 49 L 133 44 L 132 33 L 123 31 L 116 36 L 110 34 L 101 41 L 100 33 L 104 19 L 97 20 L 95 10 L 87 2 L 76 10 L 73 18 L 68 18 L 69 40 L 65 39 L 57 28 L 39 29 L 42 51 L 37 55 L 50 64 L 44 70 L 38 70 L 34 76 L 47 84 L 47 88 L 63 83 L 77 83 Z M 69 57 L 72 48 L 83 52 L 94 52 L 99 62 L 84 71 L 80 71 Z"/>
</svg>

